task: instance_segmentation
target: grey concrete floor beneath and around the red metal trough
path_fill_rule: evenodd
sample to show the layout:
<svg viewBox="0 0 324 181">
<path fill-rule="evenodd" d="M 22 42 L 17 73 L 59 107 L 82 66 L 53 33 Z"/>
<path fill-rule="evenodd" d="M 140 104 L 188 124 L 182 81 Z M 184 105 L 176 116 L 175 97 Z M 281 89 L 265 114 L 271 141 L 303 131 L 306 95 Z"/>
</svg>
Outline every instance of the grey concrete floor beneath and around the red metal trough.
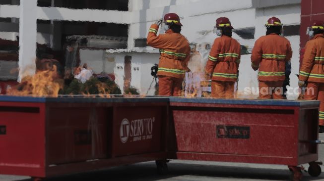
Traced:
<svg viewBox="0 0 324 181">
<path fill-rule="evenodd" d="M 324 140 L 324 134 L 320 134 L 320 139 Z M 324 161 L 323 144 L 319 153 L 319 160 Z M 304 166 L 308 168 L 308 165 Z M 282 165 L 172 160 L 168 167 L 169 173 L 165 176 L 156 174 L 154 162 L 146 162 L 47 181 L 289 181 L 290 175 L 287 166 Z M 318 178 L 312 178 L 307 173 L 304 176 L 304 181 L 324 181 L 324 173 Z M 31 180 L 28 177 L 0 176 L 0 181 Z"/>
</svg>

